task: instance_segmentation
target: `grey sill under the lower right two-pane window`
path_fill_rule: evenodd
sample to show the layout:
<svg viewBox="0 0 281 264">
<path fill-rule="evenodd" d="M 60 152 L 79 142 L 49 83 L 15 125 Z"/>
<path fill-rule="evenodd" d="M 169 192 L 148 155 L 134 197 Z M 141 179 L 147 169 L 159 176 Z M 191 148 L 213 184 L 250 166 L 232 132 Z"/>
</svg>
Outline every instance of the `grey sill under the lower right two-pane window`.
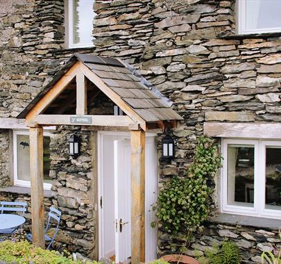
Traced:
<svg viewBox="0 0 281 264">
<path fill-rule="evenodd" d="M 254 226 L 259 228 L 280 229 L 280 220 L 254 217 L 248 215 L 231 215 L 228 213 L 220 213 L 213 217 L 210 222 L 223 224 L 240 224 L 242 226 Z"/>
</svg>

